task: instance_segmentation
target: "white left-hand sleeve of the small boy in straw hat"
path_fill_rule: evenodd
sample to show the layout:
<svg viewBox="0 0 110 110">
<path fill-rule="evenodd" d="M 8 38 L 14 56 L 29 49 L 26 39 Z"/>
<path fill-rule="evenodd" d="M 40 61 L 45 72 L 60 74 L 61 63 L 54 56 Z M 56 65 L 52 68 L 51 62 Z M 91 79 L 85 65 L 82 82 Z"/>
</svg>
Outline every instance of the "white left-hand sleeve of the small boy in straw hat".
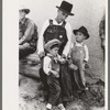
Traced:
<svg viewBox="0 0 110 110">
<path fill-rule="evenodd" d="M 43 70 L 46 75 L 50 75 L 51 72 L 51 58 L 45 56 L 44 57 L 44 63 L 43 63 Z"/>
</svg>

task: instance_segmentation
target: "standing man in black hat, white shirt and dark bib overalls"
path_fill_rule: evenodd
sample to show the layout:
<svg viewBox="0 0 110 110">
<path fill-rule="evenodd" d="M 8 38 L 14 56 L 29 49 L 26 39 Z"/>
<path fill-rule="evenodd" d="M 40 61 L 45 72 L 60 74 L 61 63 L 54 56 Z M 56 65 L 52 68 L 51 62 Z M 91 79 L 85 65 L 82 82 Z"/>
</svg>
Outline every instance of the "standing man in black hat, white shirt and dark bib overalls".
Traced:
<svg viewBox="0 0 110 110">
<path fill-rule="evenodd" d="M 37 53 L 38 53 L 41 59 L 43 59 L 43 56 L 45 55 L 44 44 L 53 38 L 57 38 L 62 42 L 58 54 L 63 58 L 66 58 L 69 53 L 70 41 L 72 41 L 72 26 L 65 20 L 68 18 L 68 15 L 74 15 L 73 13 L 70 13 L 70 11 L 73 9 L 73 4 L 67 1 L 63 1 L 61 7 L 56 7 L 56 8 L 58 9 L 56 18 L 48 19 L 47 21 L 45 21 L 45 23 L 42 28 L 42 31 L 41 31 L 41 35 L 38 37 Z M 65 68 L 65 67 L 63 66 L 63 68 Z M 65 75 L 67 75 L 67 73 Z M 63 77 L 66 77 L 65 75 L 63 75 Z M 40 69 L 40 76 L 43 81 L 44 88 L 47 89 L 46 76 L 43 73 L 42 67 Z M 63 84 L 63 86 L 65 84 Z M 69 85 L 69 84 L 67 82 L 67 85 Z M 64 91 L 67 91 L 67 94 L 68 94 L 68 90 L 67 90 L 68 88 L 65 88 L 65 89 L 66 90 L 64 90 Z M 69 95 L 67 95 L 67 97 Z"/>
</svg>

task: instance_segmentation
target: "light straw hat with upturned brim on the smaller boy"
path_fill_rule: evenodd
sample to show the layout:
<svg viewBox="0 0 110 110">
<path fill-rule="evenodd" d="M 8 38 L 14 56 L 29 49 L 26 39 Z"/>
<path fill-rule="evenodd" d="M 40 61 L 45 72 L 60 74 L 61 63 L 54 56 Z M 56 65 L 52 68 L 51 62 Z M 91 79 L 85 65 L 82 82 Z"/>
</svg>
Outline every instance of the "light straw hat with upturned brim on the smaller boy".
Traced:
<svg viewBox="0 0 110 110">
<path fill-rule="evenodd" d="M 46 51 L 50 51 L 51 47 L 52 47 L 53 45 L 55 45 L 55 44 L 61 45 L 61 41 L 58 41 L 57 38 L 51 40 L 51 41 L 48 41 L 48 42 L 44 45 L 44 48 L 45 48 Z"/>
</svg>

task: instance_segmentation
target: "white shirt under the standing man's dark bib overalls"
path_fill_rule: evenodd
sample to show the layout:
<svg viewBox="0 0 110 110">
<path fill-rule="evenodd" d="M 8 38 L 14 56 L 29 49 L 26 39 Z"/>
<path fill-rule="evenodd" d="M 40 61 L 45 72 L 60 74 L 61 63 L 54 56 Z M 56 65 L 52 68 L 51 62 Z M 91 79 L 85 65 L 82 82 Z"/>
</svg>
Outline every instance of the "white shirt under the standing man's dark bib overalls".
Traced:
<svg viewBox="0 0 110 110">
<path fill-rule="evenodd" d="M 53 20 L 53 24 L 55 24 L 55 25 L 63 24 L 63 22 L 58 24 L 55 19 L 52 19 L 52 20 Z M 41 30 L 41 35 L 40 35 L 38 42 L 37 42 L 37 53 L 38 54 L 41 52 L 44 52 L 44 36 L 43 36 L 43 34 L 48 25 L 50 25 L 50 20 L 45 21 L 45 23 Z M 72 26 L 68 22 L 66 22 L 66 24 L 65 24 L 65 30 L 66 30 L 68 42 L 66 43 L 66 45 L 64 47 L 63 54 L 67 56 L 67 54 L 69 53 L 69 50 L 70 50 L 70 42 L 72 42 Z"/>
</svg>

